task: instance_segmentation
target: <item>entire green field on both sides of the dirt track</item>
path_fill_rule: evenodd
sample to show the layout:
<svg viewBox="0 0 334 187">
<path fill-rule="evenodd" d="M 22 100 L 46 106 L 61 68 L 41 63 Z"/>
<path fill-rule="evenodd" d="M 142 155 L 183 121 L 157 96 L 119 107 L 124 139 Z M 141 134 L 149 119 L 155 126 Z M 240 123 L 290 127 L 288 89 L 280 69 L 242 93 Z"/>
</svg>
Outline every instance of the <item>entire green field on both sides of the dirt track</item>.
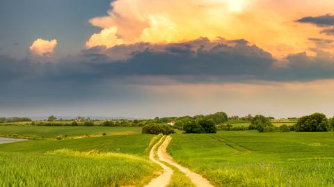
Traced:
<svg viewBox="0 0 334 187">
<path fill-rule="evenodd" d="M 40 137 L 0 144 L 0 186 L 143 186 L 161 170 L 148 159 L 157 139 L 141 127 L 10 125 L 0 132 Z M 56 140 L 61 134 L 68 136 Z M 172 137 L 168 152 L 175 161 L 215 186 L 334 186 L 334 132 L 177 131 Z M 173 170 L 169 186 L 192 186 Z"/>
</svg>

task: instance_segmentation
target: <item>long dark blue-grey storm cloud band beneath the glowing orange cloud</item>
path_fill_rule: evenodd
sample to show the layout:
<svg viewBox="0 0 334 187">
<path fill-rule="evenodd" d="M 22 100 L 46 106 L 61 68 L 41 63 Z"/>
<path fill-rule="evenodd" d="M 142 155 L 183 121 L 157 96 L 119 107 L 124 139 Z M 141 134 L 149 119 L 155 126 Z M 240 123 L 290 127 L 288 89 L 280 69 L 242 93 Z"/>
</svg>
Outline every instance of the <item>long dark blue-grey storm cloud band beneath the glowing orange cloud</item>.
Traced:
<svg viewBox="0 0 334 187">
<path fill-rule="evenodd" d="M 331 40 L 311 38 L 317 44 Z M 271 54 L 245 40 L 200 38 L 175 44 L 95 47 L 50 63 L 0 56 L 0 104 L 124 97 L 118 86 L 168 83 L 313 81 L 334 78 L 331 54 L 292 54 L 276 67 Z M 136 95 L 136 92 L 132 92 Z M 132 96 L 135 97 L 135 96 Z M 27 99 L 29 98 L 29 99 Z"/>
</svg>

